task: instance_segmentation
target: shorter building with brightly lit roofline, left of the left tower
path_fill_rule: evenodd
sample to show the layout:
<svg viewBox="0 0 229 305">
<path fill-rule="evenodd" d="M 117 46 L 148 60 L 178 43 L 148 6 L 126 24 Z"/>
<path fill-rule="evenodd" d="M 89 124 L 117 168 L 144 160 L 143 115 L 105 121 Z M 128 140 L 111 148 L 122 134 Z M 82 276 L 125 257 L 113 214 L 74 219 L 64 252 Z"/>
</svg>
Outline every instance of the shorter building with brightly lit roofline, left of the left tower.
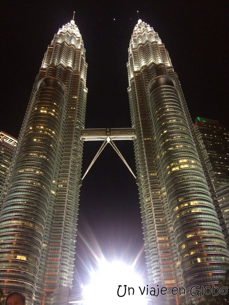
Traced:
<svg viewBox="0 0 229 305">
<path fill-rule="evenodd" d="M 17 139 L 3 131 L 0 132 L 0 196 L 10 169 L 10 163 L 12 161 L 16 145 Z"/>
</svg>

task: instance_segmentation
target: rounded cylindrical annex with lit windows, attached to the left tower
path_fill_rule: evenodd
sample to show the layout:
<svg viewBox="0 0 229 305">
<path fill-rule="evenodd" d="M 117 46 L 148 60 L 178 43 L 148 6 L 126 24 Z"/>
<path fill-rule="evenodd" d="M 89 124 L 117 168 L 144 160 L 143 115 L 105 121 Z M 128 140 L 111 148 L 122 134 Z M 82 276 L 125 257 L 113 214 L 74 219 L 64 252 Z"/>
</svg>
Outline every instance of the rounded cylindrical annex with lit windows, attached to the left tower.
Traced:
<svg viewBox="0 0 229 305">
<path fill-rule="evenodd" d="M 1 287 L 17 290 L 19 285 L 30 296 L 37 280 L 64 98 L 63 83 L 41 80 L 2 205 Z"/>
</svg>

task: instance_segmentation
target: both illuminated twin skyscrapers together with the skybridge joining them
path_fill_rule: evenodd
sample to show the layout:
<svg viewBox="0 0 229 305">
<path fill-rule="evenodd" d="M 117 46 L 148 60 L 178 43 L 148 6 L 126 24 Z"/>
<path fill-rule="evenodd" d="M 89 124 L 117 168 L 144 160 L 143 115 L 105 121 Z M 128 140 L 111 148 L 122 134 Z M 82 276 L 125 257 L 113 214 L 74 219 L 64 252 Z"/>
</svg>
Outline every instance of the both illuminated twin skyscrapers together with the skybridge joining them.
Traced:
<svg viewBox="0 0 229 305">
<path fill-rule="evenodd" d="M 27 304 L 72 287 L 83 139 L 131 138 L 149 284 L 217 285 L 229 255 L 182 89 L 158 34 L 138 20 L 127 63 L 132 128 L 85 130 L 87 63 L 74 20 L 59 29 L 35 79 L 0 216 L 0 283 Z M 210 191 L 209 191 L 210 190 Z M 159 299 L 158 299 L 159 302 Z"/>
</svg>

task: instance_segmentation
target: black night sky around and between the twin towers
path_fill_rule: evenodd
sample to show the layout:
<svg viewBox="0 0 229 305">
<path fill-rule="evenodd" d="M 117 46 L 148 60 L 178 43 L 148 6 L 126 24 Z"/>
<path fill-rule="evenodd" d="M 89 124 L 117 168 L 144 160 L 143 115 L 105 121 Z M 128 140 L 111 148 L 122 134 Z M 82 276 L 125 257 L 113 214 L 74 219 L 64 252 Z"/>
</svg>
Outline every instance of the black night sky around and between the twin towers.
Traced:
<svg viewBox="0 0 229 305">
<path fill-rule="evenodd" d="M 130 127 L 126 63 L 137 10 L 165 44 L 192 119 L 203 116 L 228 125 L 228 1 L 2 0 L 0 130 L 18 136 L 47 45 L 73 11 L 89 65 L 85 127 Z M 135 172 L 132 143 L 116 144 Z M 100 145 L 85 143 L 83 173 Z M 82 262 L 92 262 L 86 243 L 96 255 L 100 249 L 126 261 L 143 243 L 135 180 L 108 146 L 81 188 L 76 267 L 83 279 Z M 141 255 L 140 266 L 142 261 Z"/>
</svg>

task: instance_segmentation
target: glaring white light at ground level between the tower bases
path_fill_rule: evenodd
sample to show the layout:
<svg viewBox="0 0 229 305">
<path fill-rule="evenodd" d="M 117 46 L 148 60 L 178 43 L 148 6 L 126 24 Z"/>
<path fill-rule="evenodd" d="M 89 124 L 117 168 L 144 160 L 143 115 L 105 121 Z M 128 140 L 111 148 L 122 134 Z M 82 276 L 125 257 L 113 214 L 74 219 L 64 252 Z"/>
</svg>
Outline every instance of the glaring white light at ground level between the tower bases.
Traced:
<svg viewBox="0 0 229 305">
<path fill-rule="evenodd" d="M 124 295 L 124 285 L 127 285 L 123 297 L 118 296 L 119 285 L 122 285 L 120 295 Z M 83 295 L 87 305 L 146 305 L 147 300 L 140 294 L 139 286 L 144 285 L 132 266 L 104 260 L 99 264 L 99 269 L 91 273 L 90 284 L 84 288 Z M 128 287 L 134 288 L 134 294 L 130 289 L 129 295 Z"/>
</svg>

